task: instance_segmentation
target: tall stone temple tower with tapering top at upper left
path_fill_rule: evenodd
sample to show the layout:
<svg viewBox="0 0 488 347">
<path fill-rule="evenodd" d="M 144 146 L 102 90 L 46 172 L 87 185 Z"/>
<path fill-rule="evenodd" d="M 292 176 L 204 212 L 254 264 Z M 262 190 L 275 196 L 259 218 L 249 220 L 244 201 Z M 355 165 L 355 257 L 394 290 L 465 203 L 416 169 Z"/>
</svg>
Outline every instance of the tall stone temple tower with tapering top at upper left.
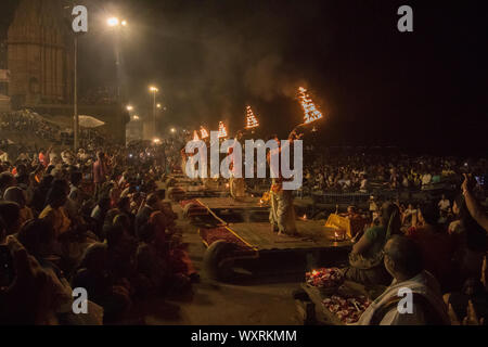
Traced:
<svg viewBox="0 0 488 347">
<path fill-rule="evenodd" d="M 14 107 L 68 104 L 73 35 L 63 0 L 21 0 L 8 31 L 9 95 Z"/>
</svg>

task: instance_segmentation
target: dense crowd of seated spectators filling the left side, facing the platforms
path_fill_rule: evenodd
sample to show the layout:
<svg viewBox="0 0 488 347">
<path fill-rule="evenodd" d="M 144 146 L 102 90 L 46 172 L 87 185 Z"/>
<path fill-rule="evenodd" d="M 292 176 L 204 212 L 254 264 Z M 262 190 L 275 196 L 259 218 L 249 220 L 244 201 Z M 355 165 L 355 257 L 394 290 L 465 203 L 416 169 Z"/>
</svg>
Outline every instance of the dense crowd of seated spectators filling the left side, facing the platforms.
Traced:
<svg viewBox="0 0 488 347">
<path fill-rule="evenodd" d="M 198 277 L 164 184 L 170 147 L 49 149 L 0 164 L 0 323 L 117 323 L 139 298 L 191 291 Z M 76 287 L 89 318 L 73 314 Z"/>
</svg>

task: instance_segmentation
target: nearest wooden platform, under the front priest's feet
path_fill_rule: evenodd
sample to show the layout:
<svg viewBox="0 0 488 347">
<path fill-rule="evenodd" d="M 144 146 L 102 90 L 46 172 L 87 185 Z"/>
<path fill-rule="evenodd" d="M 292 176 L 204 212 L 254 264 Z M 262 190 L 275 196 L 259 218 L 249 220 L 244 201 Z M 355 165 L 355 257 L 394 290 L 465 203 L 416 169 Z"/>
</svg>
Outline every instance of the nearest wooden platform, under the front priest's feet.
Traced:
<svg viewBox="0 0 488 347">
<path fill-rule="evenodd" d="M 334 229 L 323 226 L 323 221 L 296 221 L 298 236 L 278 235 L 268 222 L 230 224 L 228 228 L 253 248 L 262 250 L 350 247 L 350 241 L 335 242 Z"/>
</svg>

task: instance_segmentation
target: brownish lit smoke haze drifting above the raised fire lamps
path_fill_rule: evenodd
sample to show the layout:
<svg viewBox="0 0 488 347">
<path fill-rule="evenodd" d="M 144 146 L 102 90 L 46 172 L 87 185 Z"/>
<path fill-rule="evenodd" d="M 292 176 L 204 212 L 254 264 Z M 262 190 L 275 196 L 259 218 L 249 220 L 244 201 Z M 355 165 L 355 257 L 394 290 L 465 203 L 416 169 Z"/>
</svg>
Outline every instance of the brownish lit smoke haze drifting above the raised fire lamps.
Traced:
<svg viewBox="0 0 488 347">
<path fill-rule="evenodd" d="M 308 87 L 306 69 L 297 62 L 300 52 L 293 49 L 299 47 L 294 39 L 296 26 L 304 27 L 300 24 L 312 9 L 297 13 L 301 7 L 295 2 L 249 4 L 244 0 L 125 2 L 126 9 L 120 3 L 113 8 L 131 13 L 123 47 L 128 102 L 151 113 L 147 86 L 157 85 L 160 102 L 167 106 L 162 116 L 167 125 L 195 129 L 206 125 L 215 130 L 224 120 L 234 131 L 244 126 L 246 104 L 267 117 L 277 100 L 294 103 L 297 88 Z M 89 9 L 103 15 L 112 11 L 108 3 Z M 298 24 L 290 13 L 299 17 Z M 100 40 L 90 38 L 87 44 L 98 55 L 106 55 L 106 44 Z M 106 75 L 104 70 L 90 74 L 101 81 Z"/>
</svg>

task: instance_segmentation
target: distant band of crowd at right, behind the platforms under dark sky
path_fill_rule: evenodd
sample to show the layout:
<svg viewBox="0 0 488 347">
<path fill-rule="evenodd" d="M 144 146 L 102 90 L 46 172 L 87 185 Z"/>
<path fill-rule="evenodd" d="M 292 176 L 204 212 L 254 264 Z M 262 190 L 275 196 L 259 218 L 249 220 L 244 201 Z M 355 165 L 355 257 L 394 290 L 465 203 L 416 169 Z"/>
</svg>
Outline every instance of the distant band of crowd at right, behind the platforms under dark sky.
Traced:
<svg viewBox="0 0 488 347">
<path fill-rule="evenodd" d="M 486 159 L 412 155 L 335 154 L 306 165 L 304 189 L 314 192 L 361 192 L 374 189 L 428 190 L 459 184 L 462 174 L 485 180 Z"/>
</svg>

